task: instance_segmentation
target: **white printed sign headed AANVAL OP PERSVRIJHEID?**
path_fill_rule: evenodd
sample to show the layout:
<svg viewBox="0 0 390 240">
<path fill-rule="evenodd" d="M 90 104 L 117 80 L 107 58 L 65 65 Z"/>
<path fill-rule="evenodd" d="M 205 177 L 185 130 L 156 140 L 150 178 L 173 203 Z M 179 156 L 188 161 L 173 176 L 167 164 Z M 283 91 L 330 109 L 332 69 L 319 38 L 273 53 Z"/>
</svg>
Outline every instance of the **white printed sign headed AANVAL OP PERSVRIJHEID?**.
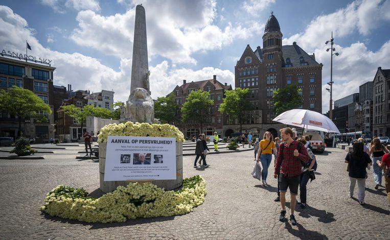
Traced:
<svg viewBox="0 0 390 240">
<path fill-rule="evenodd" d="M 174 137 L 108 136 L 104 181 L 176 179 Z"/>
</svg>

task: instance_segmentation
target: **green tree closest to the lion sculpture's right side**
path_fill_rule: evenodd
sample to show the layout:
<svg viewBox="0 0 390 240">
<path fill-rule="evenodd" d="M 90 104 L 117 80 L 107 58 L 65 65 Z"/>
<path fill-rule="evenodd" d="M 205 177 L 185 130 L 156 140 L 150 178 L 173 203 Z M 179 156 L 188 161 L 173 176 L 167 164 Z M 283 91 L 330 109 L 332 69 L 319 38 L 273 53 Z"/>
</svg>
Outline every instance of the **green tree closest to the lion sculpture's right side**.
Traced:
<svg viewBox="0 0 390 240">
<path fill-rule="evenodd" d="M 154 102 L 154 117 L 159 118 L 162 123 L 171 124 L 175 121 L 175 111 L 178 108 L 173 93 L 167 97 L 157 98 Z"/>
</svg>

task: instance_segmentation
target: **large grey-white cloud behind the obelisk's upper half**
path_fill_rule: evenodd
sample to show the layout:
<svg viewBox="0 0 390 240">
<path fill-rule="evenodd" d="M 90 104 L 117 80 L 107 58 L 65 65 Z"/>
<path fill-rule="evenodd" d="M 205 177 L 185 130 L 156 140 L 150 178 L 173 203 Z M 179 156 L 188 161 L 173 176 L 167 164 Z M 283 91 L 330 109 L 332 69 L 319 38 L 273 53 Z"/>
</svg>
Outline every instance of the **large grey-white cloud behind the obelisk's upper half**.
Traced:
<svg viewBox="0 0 390 240">
<path fill-rule="evenodd" d="M 175 8 L 170 7 L 175 5 Z M 264 25 L 249 22 L 250 27 L 227 23 L 224 29 L 213 25 L 214 1 L 144 3 L 147 21 L 148 53 L 174 63 L 192 63 L 195 52 L 221 49 L 234 39 L 247 39 L 260 33 Z M 135 8 L 124 14 L 101 16 L 93 11 L 77 15 L 79 28 L 71 38 L 79 45 L 93 47 L 120 58 L 132 55 Z M 103 43 L 103 44 L 102 44 Z"/>
</svg>

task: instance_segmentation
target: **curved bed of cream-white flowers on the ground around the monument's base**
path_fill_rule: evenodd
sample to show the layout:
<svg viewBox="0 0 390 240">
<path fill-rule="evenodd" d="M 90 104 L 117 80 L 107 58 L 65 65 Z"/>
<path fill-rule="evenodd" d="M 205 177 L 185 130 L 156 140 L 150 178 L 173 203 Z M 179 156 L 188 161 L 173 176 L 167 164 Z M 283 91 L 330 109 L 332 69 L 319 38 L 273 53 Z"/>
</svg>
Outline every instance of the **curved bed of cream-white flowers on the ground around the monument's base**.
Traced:
<svg viewBox="0 0 390 240">
<path fill-rule="evenodd" d="M 82 188 L 59 185 L 44 200 L 41 210 L 51 216 L 90 223 L 125 222 L 128 219 L 168 217 L 191 212 L 204 201 L 206 183 L 197 175 L 183 179 L 179 191 L 166 191 L 151 183 L 118 186 L 95 199 Z"/>
</svg>

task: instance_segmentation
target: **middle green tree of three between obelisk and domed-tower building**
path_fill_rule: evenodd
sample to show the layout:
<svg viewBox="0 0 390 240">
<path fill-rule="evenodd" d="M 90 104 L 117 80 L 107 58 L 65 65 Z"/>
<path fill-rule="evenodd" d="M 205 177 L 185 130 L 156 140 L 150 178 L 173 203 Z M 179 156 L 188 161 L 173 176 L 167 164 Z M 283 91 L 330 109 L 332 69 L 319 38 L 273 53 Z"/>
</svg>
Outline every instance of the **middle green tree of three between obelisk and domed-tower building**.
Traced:
<svg viewBox="0 0 390 240">
<path fill-rule="evenodd" d="M 203 131 L 203 119 L 207 108 L 214 104 L 214 101 L 209 99 L 209 92 L 197 90 L 191 91 L 186 99 L 186 102 L 181 107 L 181 119 L 183 122 L 193 120 L 200 124 L 200 131 Z"/>
</svg>

